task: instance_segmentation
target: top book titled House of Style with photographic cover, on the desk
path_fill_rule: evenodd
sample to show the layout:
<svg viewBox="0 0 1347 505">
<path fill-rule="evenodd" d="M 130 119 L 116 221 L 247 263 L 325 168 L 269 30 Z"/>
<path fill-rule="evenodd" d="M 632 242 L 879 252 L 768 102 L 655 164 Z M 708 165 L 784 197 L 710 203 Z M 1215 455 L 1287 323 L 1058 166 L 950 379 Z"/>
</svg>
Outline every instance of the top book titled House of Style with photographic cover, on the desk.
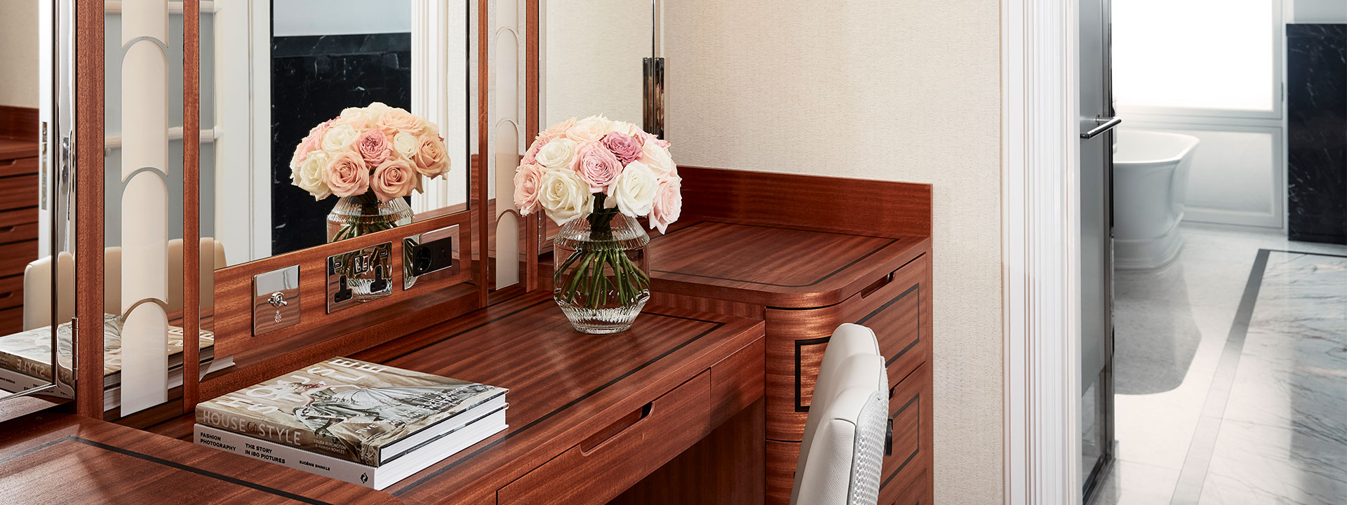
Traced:
<svg viewBox="0 0 1347 505">
<path fill-rule="evenodd" d="M 338 357 L 203 401 L 197 423 L 379 466 L 383 447 L 505 392 Z"/>
</svg>

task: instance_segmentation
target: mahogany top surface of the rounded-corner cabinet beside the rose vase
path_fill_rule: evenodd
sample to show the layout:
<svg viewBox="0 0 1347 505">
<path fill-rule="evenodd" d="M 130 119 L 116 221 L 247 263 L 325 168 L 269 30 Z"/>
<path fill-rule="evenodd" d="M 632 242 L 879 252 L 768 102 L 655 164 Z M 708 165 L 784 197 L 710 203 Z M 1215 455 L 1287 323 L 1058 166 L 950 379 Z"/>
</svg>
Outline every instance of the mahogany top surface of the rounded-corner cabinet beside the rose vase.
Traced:
<svg viewBox="0 0 1347 505">
<path fill-rule="evenodd" d="M 912 260 L 928 237 L 700 221 L 651 240 L 652 291 L 766 307 L 842 302 Z"/>
</svg>

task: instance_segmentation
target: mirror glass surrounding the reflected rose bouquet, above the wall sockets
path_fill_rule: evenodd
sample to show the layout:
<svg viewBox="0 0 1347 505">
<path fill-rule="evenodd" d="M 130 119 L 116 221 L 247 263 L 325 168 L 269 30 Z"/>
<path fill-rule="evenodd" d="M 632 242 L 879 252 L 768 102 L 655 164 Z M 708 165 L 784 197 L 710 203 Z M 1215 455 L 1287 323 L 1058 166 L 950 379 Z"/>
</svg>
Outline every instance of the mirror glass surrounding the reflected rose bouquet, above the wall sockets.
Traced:
<svg viewBox="0 0 1347 505">
<path fill-rule="evenodd" d="M 467 34 L 457 4 L 214 3 L 209 28 L 202 16 L 201 119 L 222 135 L 214 149 L 202 145 L 201 210 L 202 236 L 224 250 L 216 264 L 236 265 L 346 237 L 330 233 L 329 217 L 350 209 L 335 195 L 315 199 L 311 184 L 299 187 L 292 159 L 315 127 L 348 108 L 380 102 L 405 109 L 443 137 L 449 172 L 422 179 L 422 191 L 404 198 L 411 218 L 383 221 L 405 224 L 467 209 Z M 424 22 L 439 19 L 427 9 L 443 11 L 445 22 Z M 205 40 L 207 30 L 211 42 Z M 337 140 L 334 135 L 330 144 Z M 317 167 L 317 160 L 311 163 Z M 207 171 L 207 164 L 220 168 Z M 399 202 L 373 201 L 356 210 L 368 214 L 377 206 L 408 211 Z"/>
</svg>

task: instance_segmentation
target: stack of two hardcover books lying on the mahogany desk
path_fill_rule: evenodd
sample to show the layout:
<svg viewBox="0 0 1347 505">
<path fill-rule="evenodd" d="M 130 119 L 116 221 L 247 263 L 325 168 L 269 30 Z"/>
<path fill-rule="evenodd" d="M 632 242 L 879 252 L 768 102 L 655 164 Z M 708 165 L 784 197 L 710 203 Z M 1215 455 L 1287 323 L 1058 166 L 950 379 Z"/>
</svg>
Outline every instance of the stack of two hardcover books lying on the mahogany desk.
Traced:
<svg viewBox="0 0 1347 505">
<path fill-rule="evenodd" d="M 505 430 L 505 392 L 330 358 L 198 404 L 194 439 L 384 489 Z"/>
</svg>

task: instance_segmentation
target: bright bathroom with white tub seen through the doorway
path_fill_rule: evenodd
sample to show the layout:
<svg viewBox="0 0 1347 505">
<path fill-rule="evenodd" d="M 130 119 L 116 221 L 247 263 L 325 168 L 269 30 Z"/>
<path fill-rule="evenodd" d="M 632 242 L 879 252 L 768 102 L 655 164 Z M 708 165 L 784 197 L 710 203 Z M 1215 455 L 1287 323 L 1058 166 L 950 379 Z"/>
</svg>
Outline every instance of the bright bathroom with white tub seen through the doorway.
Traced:
<svg viewBox="0 0 1347 505">
<path fill-rule="evenodd" d="M 1111 3 L 1087 502 L 1347 502 L 1344 46 L 1342 0 Z"/>
</svg>

